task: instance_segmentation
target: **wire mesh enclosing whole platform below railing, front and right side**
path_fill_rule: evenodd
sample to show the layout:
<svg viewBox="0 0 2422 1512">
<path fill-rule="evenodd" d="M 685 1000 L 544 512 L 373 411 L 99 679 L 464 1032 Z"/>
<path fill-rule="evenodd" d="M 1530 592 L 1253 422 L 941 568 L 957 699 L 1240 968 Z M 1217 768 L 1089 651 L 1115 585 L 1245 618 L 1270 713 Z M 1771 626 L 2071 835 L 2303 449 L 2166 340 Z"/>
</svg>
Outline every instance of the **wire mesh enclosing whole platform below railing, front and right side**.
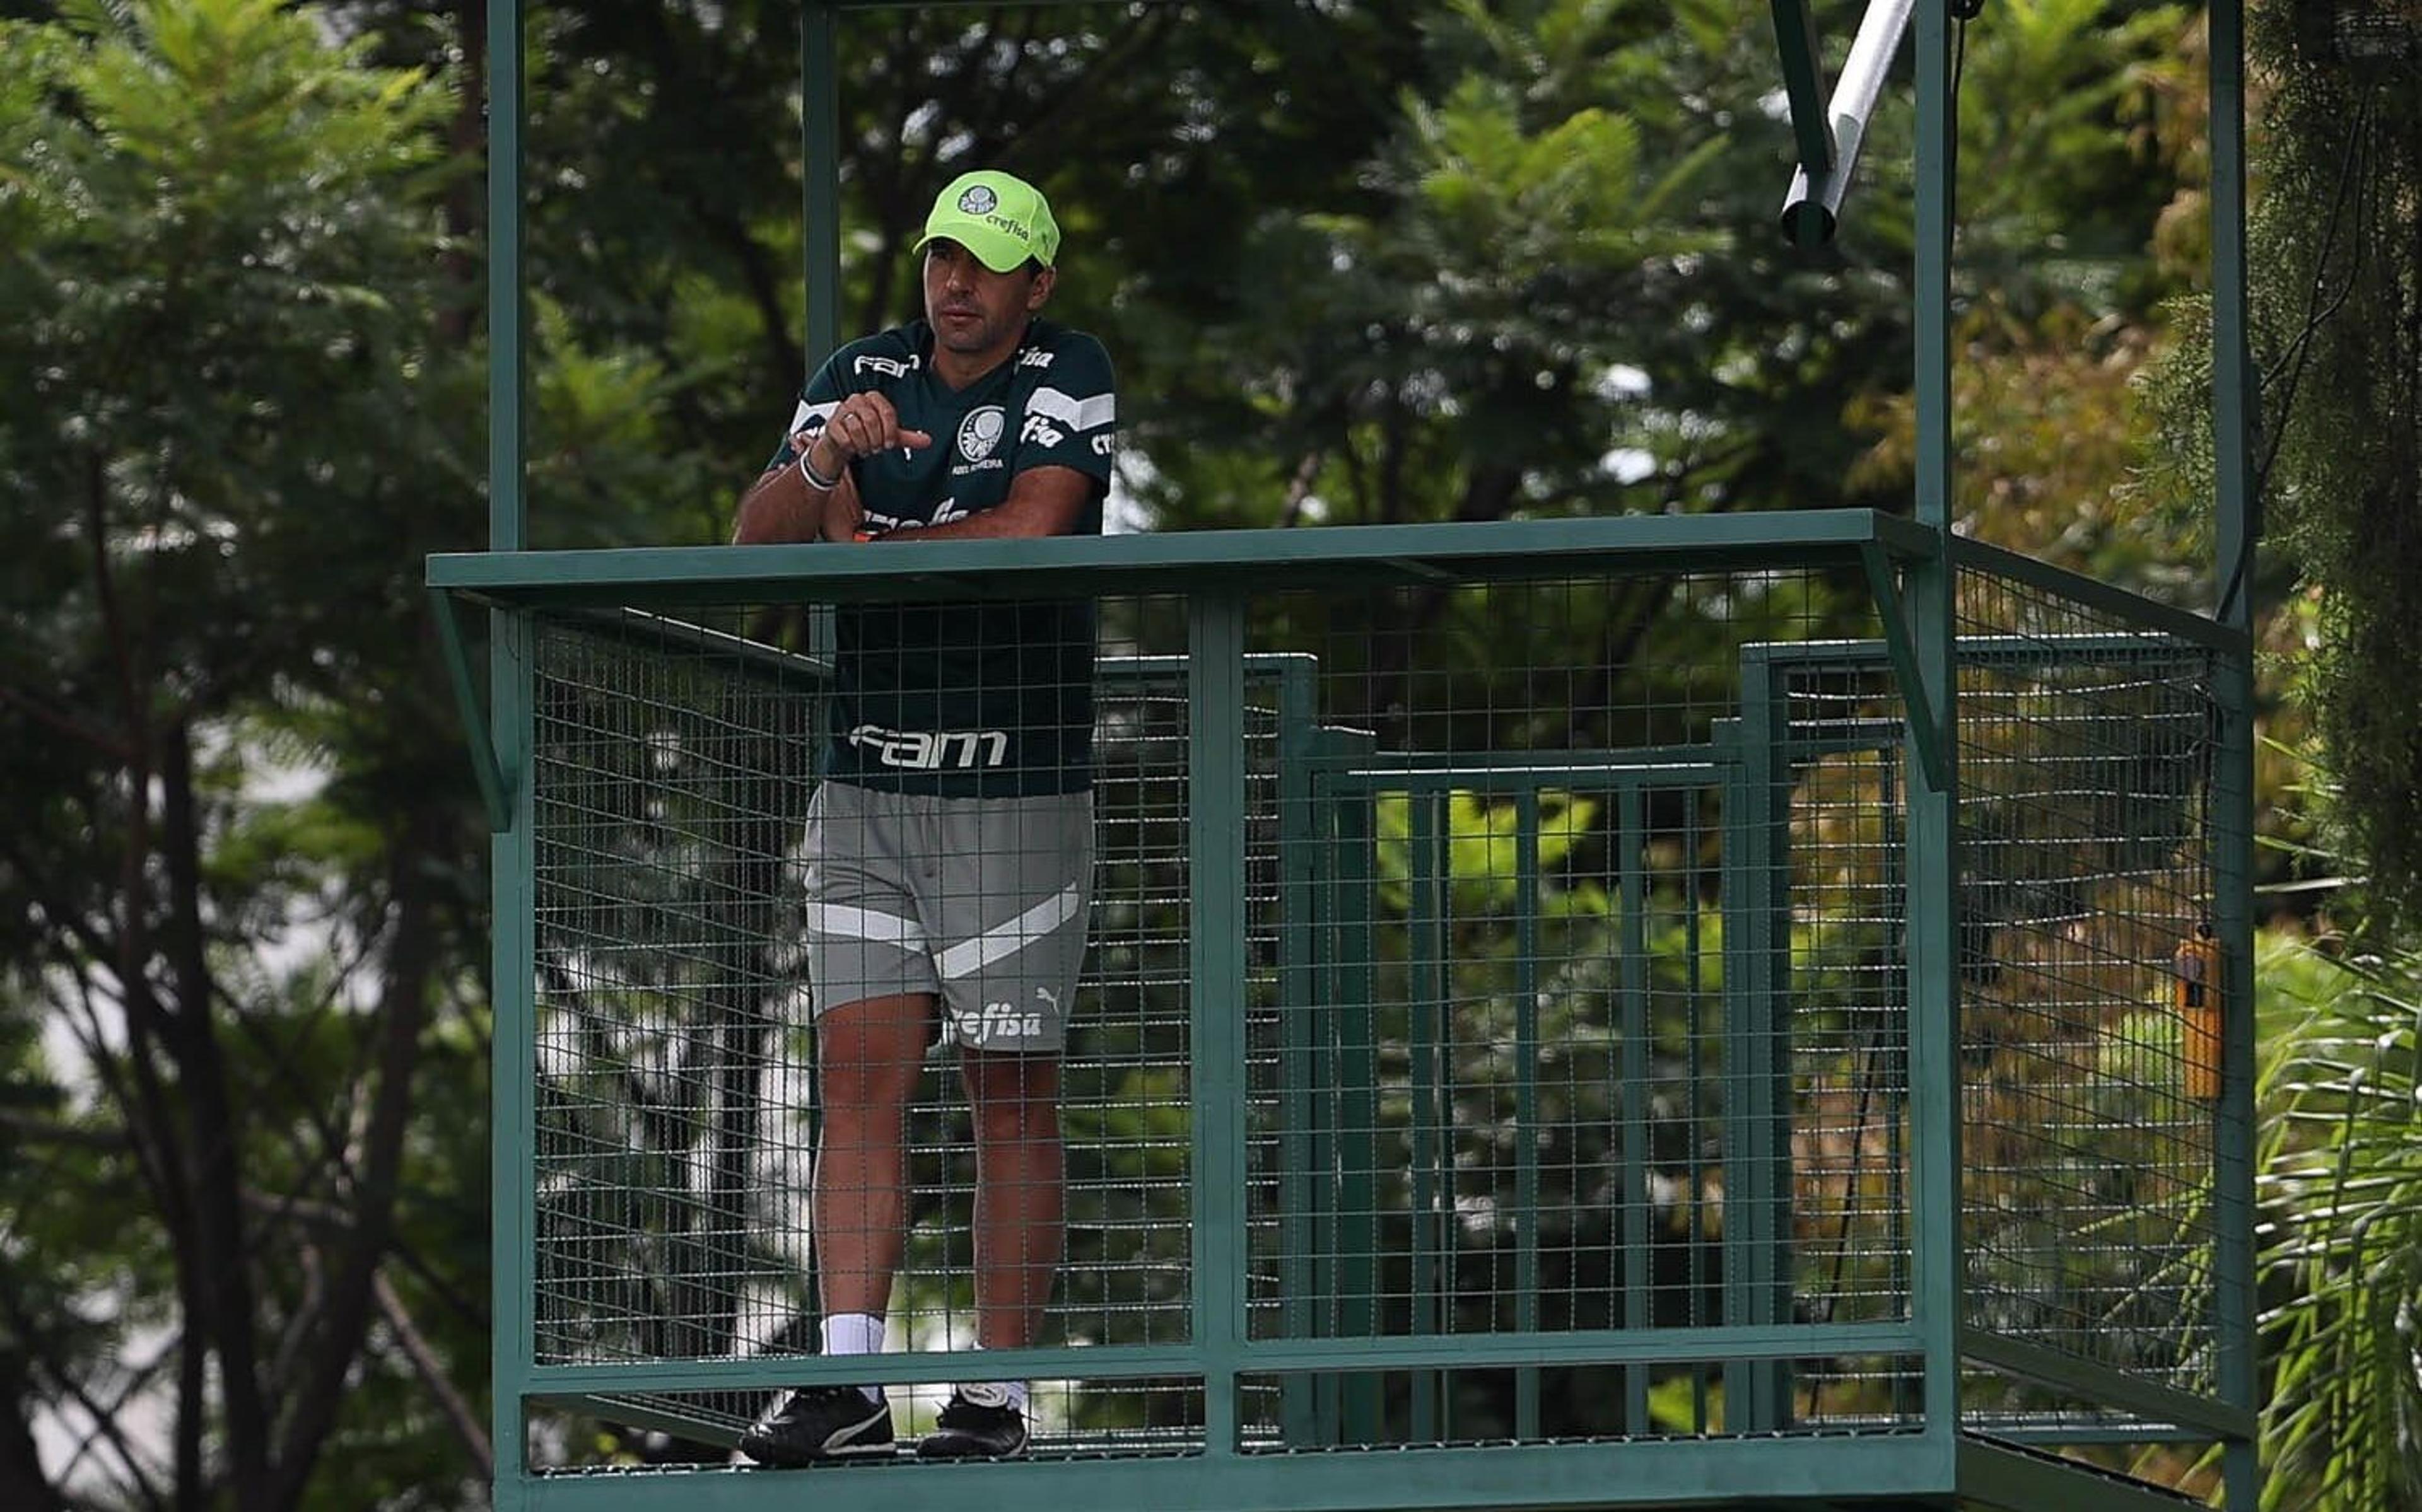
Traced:
<svg viewBox="0 0 2422 1512">
<path fill-rule="evenodd" d="M 804 1369 L 862 1311 L 932 1359 L 903 1434 L 978 1345 L 1056 1350 L 1041 1454 L 1918 1425 L 1913 1350 L 1722 1333 L 1913 1308 L 1935 901 L 1865 579 L 1269 589 L 1213 712 L 1184 596 L 945 608 L 540 615 L 533 1364 Z M 2206 1391 L 2173 984 L 2209 666 L 1981 574 L 1959 630 L 1967 1321 Z M 1194 804 L 1201 761 L 1242 814 Z M 1240 1190 L 1204 1182 L 1206 887 L 1240 899 Z M 1049 1078 L 1003 1093 L 1020 1061 Z M 1121 1347 L 1175 1367 L 1087 1374 Z M 765 1405 L 581 1410 L 722 1447 Z M 1972 1408 L 2064 1410 L 1984 1376 Z"/>
</svg>

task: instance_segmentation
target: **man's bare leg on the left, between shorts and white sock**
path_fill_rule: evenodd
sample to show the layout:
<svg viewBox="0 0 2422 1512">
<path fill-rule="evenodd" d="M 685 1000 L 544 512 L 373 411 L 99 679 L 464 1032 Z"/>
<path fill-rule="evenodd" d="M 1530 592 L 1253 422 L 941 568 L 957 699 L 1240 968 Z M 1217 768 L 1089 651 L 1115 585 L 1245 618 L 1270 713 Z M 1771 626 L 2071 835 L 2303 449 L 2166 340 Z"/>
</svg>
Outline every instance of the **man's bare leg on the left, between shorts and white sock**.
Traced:
<svg viewBox="0 0 2422 1512">
<path fill-rule="evenodd" d="M 882 1318 L 891 1306 L 908 1216 L 901 1115 L 932 1040 L 932 996 L 906 993 L 843 1003 L 816 1018 L 823 1127 L 809 1221 L 826 1318 Z"/>
</svg>

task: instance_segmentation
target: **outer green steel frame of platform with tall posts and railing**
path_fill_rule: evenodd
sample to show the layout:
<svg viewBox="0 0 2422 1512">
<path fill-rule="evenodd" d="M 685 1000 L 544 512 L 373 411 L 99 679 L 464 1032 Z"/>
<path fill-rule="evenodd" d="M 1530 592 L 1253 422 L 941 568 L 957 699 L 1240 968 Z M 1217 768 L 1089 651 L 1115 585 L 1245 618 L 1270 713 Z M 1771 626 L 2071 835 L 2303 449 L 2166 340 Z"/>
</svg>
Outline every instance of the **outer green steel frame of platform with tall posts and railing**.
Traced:
<svg viewBox="0 0 2422 1512">
<path fill-rule="evenodd" d="M 802 133 L 807 150 L 807 187 L 802 211 L 807 218 L 807 310 L 809 361 L 819 361 L 838 344 L 838 56 L 833 22 L 845 10 L 884 10 L 911 0 L 802 0 Z M 949 2 L 949 0 L 942 0 Z M 976 5 L 1022 5 L 1049 0 L 962 0 Z M 1807 85 L 1814 78 L 1814 39 L 1800 0 L 1775 0 L 1778 22 L 1797 22 L 1785 31 L 1785 70 L 1797 80 L 1795 104 L 1804 104 Z M 1792 61 L 1792 34 L 1800 36 L 1802 63 Z M 1906 562 L 1901 584 L 1904 611 L 1887 611 L 1887 652 L 1901 666 L 1909 688 L 1928 712 L 1925 727 L 1947 729 L 1952 720 L 1952 601 L 1950 586 L 1955 565 L 1938 543 L 1950 543 L 1950 225 L 1952 225 L 1952 155 L 1950 145 L 1950 68 L 1947 68 L 1947 0 L 1918 5 L 1918 276 L 1916 276 L 1916 330 L 1918 330 L 1918 485 L 1916 523 L 1872 516 L 1865 523 L 1848 521 L 1853 511 L 1819 511 L 1814 516 L 1770 516 L 1766 521 L 1603 521 L 1623 523 L 1630 540 L 1615 548 L 1635 567 L 1666 560 L 1674 565 L 1724 567 L 1746 565 L 1761 555 L 1775 565 L 1795 565 L 1804 550 L 1829 552 L 1846 548 L 1877 579 L 1877 557 L 1867 543 L 1882 545 L 1892 557 Z M 530 1107 L 513 1088 L 530 1073 L 530 921 L 528 921 L 528 783 L 523 763 L 530 751 L 530 620 L 523 613 L 504 611 L 504 603 L 530 606 L 547 598 L 576 598 L 579 591 L 608 586 L 627 589 L 630 603 L 683 603 L 729 598 L 734 594 L 763 594 L 787 598 L 814 594 L 804 579 L 816 579 L 826 598 L 853 586 L 884 591 L 889 579 L 882 562 L 865 557 L 828 555 L 807 560 L 814 548 L 746 548 L 717 550 L 717 562 L 707 567 L 685 552 L 630 552 L 608 562 L 596 552 L 569 552 L 557 557 L 523 555 L 526 543 L 526 279 L 523 279 L 523 2 L 494 0 L 487 7 L 487 56 L 489 56 L 489 552 L 487 557 L 434 557 L 429 565 L 431 589 L 450 589 L 475 601 L 499 606 L 489 615 L 489 720 L 482 741 L 487 754 L 477 758 L 482 800 L 497 824 L 494 836 L 494 981 L 497 981 L 497 1124 L 492 1149 L 492 1178 L 497 1190 L 494 1224 L 494 1316 L 497 1316 L 497 1371 L 494 1371 L 494 1447 L 497 1447 L 497 1507 L 518 1512 L 521 1507 L 656 1507 L 666 1495 L 661 1476 L 606 1476 L 606 1478 L 543 1478 L 526 1476 L 523 1410 L 526 1401 L 545 1396 L 530 1367 L 530 1313 L 523 1306 L 528 1279 L 530 1195 L 521 1175 L 530 1156 Z M 2216 824 L 2219 824 L 2219 935 L 2223 945 L 2223 981 L 2228 1003 L 2252 1001 L 2252 659 L 2245 649 L 2250 640 L 2250 577 L 2257 538 L 2257 497 L 2250 460 L 2250 405 L 2255 397 L 2252 356 L 2245 317 L 2245 80 L 2243 80 L 2243 0 L 2214 0 L 2211 5 L 2211 148 L 2214 148 L 2214 349 L 2219 354 L 2214 373 L 2214 439 L 2216 439 L 2216 623 L 2228 635 L 2221 676 L 2223 729 L 2216 763 Z M 1807 75 L 1807 78 L 1802 78 Z M 1807 121 L 1804 109 L 1795 109 L 1795 121 Z M 1804 133 L 1804 128 L 1802 128 Z M 1800 521 L 1778 526 L 1775 519 Z M 1809 526 L 1814 521 L 1814 528 Z M 1562 523 L 1562 521 L 1560 521 Z M 1584 523 L 1584 521 L 1569 521 Z M 1674 526 L 1669 531 L 1666 526 Z M 1843 531 L 1843 526 L 1855 526 Z M 1451 531 L 1451 526 L 1441 526 Z M 1572 550 L 1569 538 L 1557 536 L 1555 523 L 1528 526 L 1521 540 L 1523 552 Z M 1286 533 L 1289 550 L 1301 545 L 1305 533 Z M 1342 536 L 1327 531 L 1320 536 Z M 1347 572 L 1414 569 L 1441 538 L 1402 543 L 1390 560 L 1385 550 L 1344 550 L 1332 567 Z M 1068 577 L 1114 574 L 1121 569 L 1121 548 L 1095 555 L 1054 550 L 1056 543 L 1020 543 L 998 548 L 920 548 L 935 552 L 920 562 L 930 574 L 930 586 L 911 591 L 964 591 L 971 579 L 1039 567 Z M 1092 545 L 1092 543 L 1087 543 Z M 1107 543 L 1102 543 L 1107 545 Z M 1252 545 L 1228 540 L 1223 545 Z M 1347 543 L 1339 543 L 1347 545 Z M 1364 543 L 1368 545 L 1368 543 Z M 1606 550 L 1603 543 L 1584 545 L 1582 552 Z M 1315 567 L 1327 557 L 1320 548 L 1291 557 L 1296 569 Z M 1245 552 L 1223 552 L 1209 545 L 1194 562 L 1160 562 L 1170 582 L 1180 582 L 1192 567 L 1226 574 L 1233 584 L 1269 567 L 1267 560 Z M 1284 572 L 1284 567 L 1281 567 Z M 603 577 L 601 577 L 603 574 Z M 949 574 L 942 582 L 940 574 Z M 964 577 L 962 577 L 964 574 Z M 1032 579 L 1027 579 L 1032 584 Z M 1129 584 L 1133 586 L 1133 584 Z M 889 579 L 889 591 L 901 584 Z M 688 598 L 683 594 L 690 594 Z M 2192 618 L 2192 615 L 2187 615 Z M 2199 620 L 2211 625 L 2214 620 Z M 463 647 L 460 625 L 453 608 L 441 611 L 448 637 L 448 662 L 458 691 L 472 683 L 470 659 Z M 1196 632 L 1213 647 L 1209 664 L 1189 669 L 1194 712 L 1199 715 L 1192 741 L 1228 732 L 1235 724 L 1233 708 L 1213 708 L 1218 695 L 1240 691 L 1240 625 L 1235 598 L 1206 598 L 1196 606 Z M 1892 630 L 1899 628 L 1899 630 Z M 1199 645 L 1196 652 L 1204 652 Z M 1913 674 L 1913 676 L 1909 676 Z M 467 693 L 465 693 L 467 695 Z M 470 698 L 470 695 L 467 695 Z M 1942 724 L 1935 724 L 1940 720 Z M 477 717 L 465 720 L 480 729 Z M 1955 872 L 1955 771 L 1947 749 L 1925 749 L 1935 741 L 1911 739 L 1909 761 L 1909 884 L 1933 897 L 1950 897 Z M 1196 768 L 1199 773 L 1204 768 Z M 1230 783 L 1230 778 L 1211 778 Z M 1240 812 L 1228 809 L 1228 812 Z M 1196 836 L 1196 853 L 1211 865 L 1240 860 L 1240 836 L 1226 826 Z M 1368 834 L 1339 829 L 1337 846 L 1368 846 Z M 1337 906 L 1339 899 L 1320 899 Z M 1349 918 L 1339 923 L 1351 928 Z M 964 1497 L 983 1497 L 998 1507 L 1061 1507 L 1068 1495 L 1095 1495 L 1109 1502 L 1160 1505 L 1172 1512 L 1189 1507 L 1291 1507 L 1313 1512 L 1318 1507 L 1412 1507 L 1412 1505 L 1649 1505 L 1649 1495 L 1628 1495 L 1645 1485 L 1693 1488 L 1698 1505 L 1727 1500 L 1807 1500 L 1809 1485 L 1829 1485 L 1829 1495 L 1855 1497 L 1921 1497 L 1940 1500 L 1959 1488 L 1984 1505 L 2042 1507 L 2076 1497 L 2078 1471 L 2047 1466 L 2034 1456 L 1974 1442 L 1952 1442 L 1957 1425 L 1957 1371 L 1947 1362 L 1959 1352 L 1957 1330 L 1957 1265 L 1959 1241 L 1957 1212 L 1957 1056 L 1955 1027 L 1957 1003 L 1952 993 L 1952 950 L 1957 921 L 1947 909 L 1923 911 L 1923 928 L 1911 930 L 1911 1083 L 1916 1095 L 1918 1144 L 1913 1163 L 1918 1173 L 1918 1306 L 1916 1323 L 1930 1362 L 1925 1376 L 1928 1427 L 1916 1437 L 1894 1439 L 1775 1439 L 1746 1444 L 1574 1444 L 1545 1449 L 1441 1449 L 1407 1451 L 1393 1456 L 1235 1456 L 1221 1449 L 1213 1437 L 1213 1459 L 1192 1461 L 1189 1473 L 1167 1473 L 1158 1461 L 1095 1461 L 1061 1466 L 1049 1473 L 1044 1466 L 1020 1468 L 998 1476 L 991 1468 L 935 1468 L 918 1476 L 860 1476 L 850 1480 L 850 1502 L 867 1507 L 932 1507 Z M 1206 1006 L 1240 1003 L 1240 945 L 1204 947 L 1196 962 L 1209 972 L 1196 976 L 1196 1023 L 1213 1032 L 1209 1044 L 1223 1052 L 1221 1064 L 1209 1073 L 1223 1083 L 1240 1076 L 1242 1047 L 1235 1023 L 1204 1023 Z M 1368 1044 L 1368 1040 L 1366 1040 Z M 2260 1468 L 2250 1439 L 2250 1415 L 2260 1405 L 2260 1384 L 2252 1345 L 2252 1023 L 2248 1013 L 2231 1015 L 2226 1025 L 2226 1076 L 2219 1110 L 2221 1175 L 2219 1199 L 2219 1289 L 2223 1308 L 2221 1388 L 2236 1413 L 2223 1449 L 2226 1505 L 2231 1512 L 2250 1512 L 2260 1497 Z M 1240 1115 L 1238 1115 L 1240 1117 Z M 1351 1124 L 1349 1124 L 1351 1127 Z M 1201 1173 L 1199 1173 L 1201 1180 Z M 1199 1243 L 1226 1253 L 1242 1243 L 1242 1233 L 1211 1233 Z M 1221 1289 L 1211 1299 L 1221 1311 L 1223 1328 L 1233 1321 L 1235 1333 L 1213 1342 L 1223 1369 L 1242 1369 L 1252 1350 L 1240 1342 L 1242 1299 Z M 1233 1304 L 1233 1318 L 1230 1318 Z M 1354 1318 L 1339 1318 L 1342 1325 Z M 1364 1321 L 1366 1323 L 1366 1321 Z M 1371 1381 L 1347 1379 L 1332 1393 L 1330 1413 L 1337 1422 L 1368 1427 L 1376 1422 L 1376 1398 Z M 1533 1391 L 1536 1410 L 1536 1391 Z M 1233 1403 L 1228 1408 L 1233 1413 Z M 1233 1420 L 1228 1422 L 1233 1427 Z M 1233 1439 L 1228 1439 L 1233 1449 Z M 1373 1476 L 1373 1466 L 1412 1466 L 1410 1473 Z M 1223 1468 L 1226 1473 L 1206 1473 Z M 758 1507 L 782 1495 L 797 1483 L 775 1480 L 761 1485 L 763 1476 L 748 1473 L 683 1473 L 678 1493 L 702 1512 L 714 1507 Z M 1521 1485 L 1519 1500 L 1506 1500 L 1504 1488 Z M 1010 1490 L 1017 1488 L 1017 1490 Z M 1417 1495 L 1412 1495 L 1417 1493 Z M 1657 1493 L 1661 1495 L 1661 1493 Z M 2097 1505 L 2156 1507 L 2177 1505 L 2156 1493 L 2105 1485 Z M 1691 1505 L 1669 1500 L 1664 1505 Z"/>
</svg>

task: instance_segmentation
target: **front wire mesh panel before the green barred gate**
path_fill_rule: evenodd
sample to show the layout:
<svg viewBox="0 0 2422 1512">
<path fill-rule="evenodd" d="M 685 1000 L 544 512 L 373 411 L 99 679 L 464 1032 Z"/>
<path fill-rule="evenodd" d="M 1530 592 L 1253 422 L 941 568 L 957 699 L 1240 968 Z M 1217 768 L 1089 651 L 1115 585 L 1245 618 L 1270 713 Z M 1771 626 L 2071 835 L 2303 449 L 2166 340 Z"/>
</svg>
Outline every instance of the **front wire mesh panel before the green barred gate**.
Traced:
<svg viewBox="0 0 2422 1512">
<path fill-rule="evenodd" d="M 1870 630 L 1863 586 L 1441 584 L 1252 625 L 1318 666 L 1257 979 L 1255 1338 L 1906 1316 L 1899 708 L 1875 642 L 1768 666 Z M 1872 1422 L 1904 1374 L 1817 1364 L 1792 1405 L 1761 1371 L 1758 1413 L 1691 1362 L 1308 1374 L 1279 1439 Z"/>
</svg>

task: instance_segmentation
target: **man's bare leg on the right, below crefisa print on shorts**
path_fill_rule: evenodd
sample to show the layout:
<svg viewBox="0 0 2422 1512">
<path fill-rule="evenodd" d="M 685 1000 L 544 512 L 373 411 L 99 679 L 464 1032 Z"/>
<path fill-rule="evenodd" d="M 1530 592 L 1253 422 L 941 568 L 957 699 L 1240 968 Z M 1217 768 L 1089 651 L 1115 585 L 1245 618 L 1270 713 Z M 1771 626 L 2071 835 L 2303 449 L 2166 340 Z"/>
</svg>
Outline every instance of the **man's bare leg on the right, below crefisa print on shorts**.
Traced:
<svg viewBox="0 0 2422 1512">
<path fill-rule="evenodd" d="M 1020 1350 L 1061 1262 L 1058 1056 L 969 1049 L 959 1076 L 976 1122 L 976 1342 Z"/>
</svg>

